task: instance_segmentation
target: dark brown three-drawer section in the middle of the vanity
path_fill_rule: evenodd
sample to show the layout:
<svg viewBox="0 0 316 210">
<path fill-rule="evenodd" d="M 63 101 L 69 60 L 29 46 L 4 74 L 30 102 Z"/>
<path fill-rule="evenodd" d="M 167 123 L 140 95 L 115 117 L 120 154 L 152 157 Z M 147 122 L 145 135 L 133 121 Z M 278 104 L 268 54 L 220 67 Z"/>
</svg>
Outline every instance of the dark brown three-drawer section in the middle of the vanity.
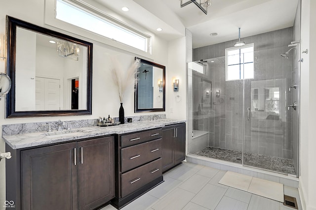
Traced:
<svg viewBox="0 0 316 210">
<path fill-rule="evenodd" d="M 161 128 L 118 136 L 118 209 L 163 181 L 161 141 Z"/>
</svg>

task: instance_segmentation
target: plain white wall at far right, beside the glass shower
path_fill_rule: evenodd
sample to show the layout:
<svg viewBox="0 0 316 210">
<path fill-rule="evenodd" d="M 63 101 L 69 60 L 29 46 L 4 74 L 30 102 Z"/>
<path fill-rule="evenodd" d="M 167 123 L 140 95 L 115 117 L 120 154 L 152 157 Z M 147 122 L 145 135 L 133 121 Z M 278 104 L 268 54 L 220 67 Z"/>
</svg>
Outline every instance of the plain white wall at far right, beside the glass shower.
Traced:
<svg viewBox="0 0 316 210">
<path fill-rule="evenodd" d="M 302 0 L 301 107 L 300 107 L 300 196 L 303 209 L 316 210 L 316 1 Z"/>
</svg>

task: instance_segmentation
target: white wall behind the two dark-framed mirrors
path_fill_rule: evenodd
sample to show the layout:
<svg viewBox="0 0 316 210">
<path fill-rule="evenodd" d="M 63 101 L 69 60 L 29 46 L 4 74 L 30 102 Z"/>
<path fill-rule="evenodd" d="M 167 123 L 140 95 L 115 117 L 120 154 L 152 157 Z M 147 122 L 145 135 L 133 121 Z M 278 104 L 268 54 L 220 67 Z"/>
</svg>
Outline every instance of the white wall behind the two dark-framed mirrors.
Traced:
<svg viewBox="0 0 316 210">
<path fill-rule="evenodd" d="M 41 27 L 44 25 L 44 0 L 5 0 L 0 6 L 0 34 L 5 33 L 5 16 L 9 15 Z M 32 12 L 30 12 L 32 11 Z M 52 29 L 52 27 L 47 27 Z M 0 126 L 3 124 L 27 123 L 27 122 L 44 122 L 78 119 L 94 119 L 99 116 L 118 117 L 119 98 L 113 90 L 113 82 L 110 73 L 112 66 L 110 57 L 117 57 L 121 62 L 123 69 L 128 69 L 136 56 L 133 53 L 119 50 L 104 43 L 94 41 L 89 37 L 82 37 L 78 34 L 71 34 L 60 29 L 55 31 L 72 35 L 93 43 L 93 77 L 92 77 L 92 115 L 87 116 L 68 116 L 68 117 L 38 117 L 38 118 L 21 118 L 5 119 L 5 100 L 2 97 L 0 101 Z M 185 38 L 178 38 L 173 41 L 165 41 L 159 36 L 155 36 L 153 42 L 154 62 L 166 66 L 166 113 L 169 118 L 185 119 L 186 118 L 186 78 L 185 78 Z M 5 62 L 0 60 L 0 72 L 5 71 Z M 171 89 L 172 78 L 180 79 L 180 89 L 177 94 L 181 96 L 181 102 L 175 102 L 175 93 Z M 125 116 L 142 115 L 134 113 L 134 91 L 133 87 L 128 89 L 123 101 Z M 173 113 L 170 113 L 170 107 Z M 148 113 L 150 114 L 150 113 Z M 0 129 L 0 135 L 1 129 Z M 5 151 L 5 144 L 0 140 L 0 151 Z M 3 210 L 5 201 L 5 161 L 0 162 L 0 210 Z M 8 186 L 9 187 L 9 186 Z"/>
</svg>

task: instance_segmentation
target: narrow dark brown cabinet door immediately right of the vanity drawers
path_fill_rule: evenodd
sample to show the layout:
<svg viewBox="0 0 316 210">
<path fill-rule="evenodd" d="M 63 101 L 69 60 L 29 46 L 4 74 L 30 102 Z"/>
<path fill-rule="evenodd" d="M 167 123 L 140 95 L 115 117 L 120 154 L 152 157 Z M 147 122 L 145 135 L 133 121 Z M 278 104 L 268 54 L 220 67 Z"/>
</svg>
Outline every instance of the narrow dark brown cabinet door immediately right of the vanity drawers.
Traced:
<svg viewBox="0 0 316 210">
<path fill-rule="evenodd" d="M 162 172 L 173 166 L 173 138 L 174 126 L 167 126 L 162 130 Z"/>
</svg>

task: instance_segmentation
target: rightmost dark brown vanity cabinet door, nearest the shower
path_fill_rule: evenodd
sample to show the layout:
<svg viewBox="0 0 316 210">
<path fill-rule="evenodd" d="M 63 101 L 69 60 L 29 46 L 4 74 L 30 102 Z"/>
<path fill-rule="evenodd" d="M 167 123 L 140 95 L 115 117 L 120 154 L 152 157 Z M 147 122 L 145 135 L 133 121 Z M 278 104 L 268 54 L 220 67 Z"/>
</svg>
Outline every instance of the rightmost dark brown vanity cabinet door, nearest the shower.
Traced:
<svg viewBox="0 0 316 210">
<path fill-rule="evenodd" d="M 186 126 L 179 124 L 175 127 L 175 138 L 173 145 L 174 165 L 181 163 L 186 156 Z"/>
</svg>

